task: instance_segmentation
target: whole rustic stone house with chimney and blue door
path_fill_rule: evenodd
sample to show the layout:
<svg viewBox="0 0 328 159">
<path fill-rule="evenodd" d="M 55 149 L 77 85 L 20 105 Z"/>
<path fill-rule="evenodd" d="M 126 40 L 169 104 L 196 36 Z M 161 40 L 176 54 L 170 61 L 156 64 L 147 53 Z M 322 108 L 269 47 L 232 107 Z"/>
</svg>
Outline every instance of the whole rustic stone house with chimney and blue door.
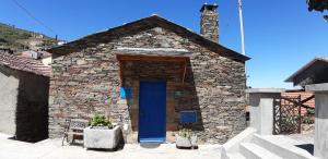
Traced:
<svg viewBox="0 0 328 159">
<path fill-rule="evenodd" d="M 49 136 L 95 113 L 128 143 L 174 142 L 183 127 L 224 143 L 243 131 L 249 58 L 218 44 L 216 8 L 201 8 L 200 35 L 152 15 L 49 49 Z"/>
</svg>

